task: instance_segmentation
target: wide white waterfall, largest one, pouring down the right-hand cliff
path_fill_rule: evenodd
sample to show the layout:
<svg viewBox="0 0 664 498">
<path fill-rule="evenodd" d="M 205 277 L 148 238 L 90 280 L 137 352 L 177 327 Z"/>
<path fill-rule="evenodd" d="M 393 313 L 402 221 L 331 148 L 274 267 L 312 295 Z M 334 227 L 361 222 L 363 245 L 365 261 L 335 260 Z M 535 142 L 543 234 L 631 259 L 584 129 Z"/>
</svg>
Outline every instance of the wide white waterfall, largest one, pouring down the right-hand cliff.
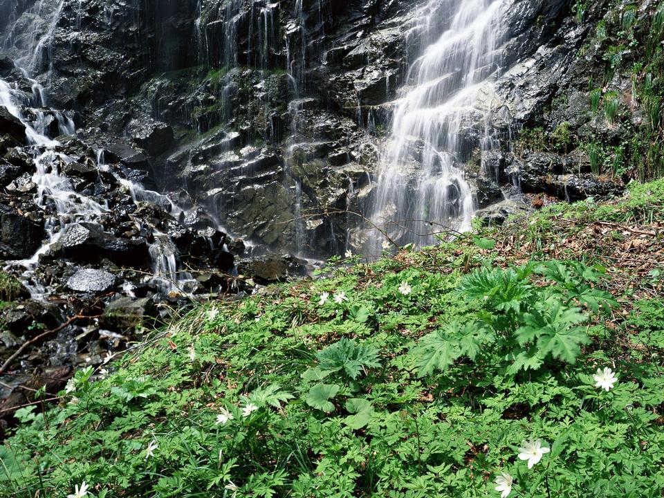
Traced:
<svg viewBox="0 0 664 498">
<path fill-rule="evenodd" d="M 499 69 L 505 3 L 430 0 L 418 10 L 409 38 L 423 40 L 425 48 L 394 103 L 370 215 L 399 243 L 425 245 L 436 240 L 433 232 L 470 229 L 474 199 L 457 163 L 459 133 L 477 121 L 474 102 Z M 384 237 L 369 239 L 367 253 L 380 254 Z"/>
</svg>

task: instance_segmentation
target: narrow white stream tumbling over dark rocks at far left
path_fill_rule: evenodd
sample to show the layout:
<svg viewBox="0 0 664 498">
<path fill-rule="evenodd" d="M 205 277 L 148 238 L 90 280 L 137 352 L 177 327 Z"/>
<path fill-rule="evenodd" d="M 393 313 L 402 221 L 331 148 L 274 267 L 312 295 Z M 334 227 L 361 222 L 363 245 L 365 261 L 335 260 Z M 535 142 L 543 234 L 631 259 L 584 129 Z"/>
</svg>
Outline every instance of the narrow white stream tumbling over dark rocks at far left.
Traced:
<svg viewBox="0 0 664 498">
<path fill-rule="evenodd" d="M 30 33 L 27 49 L 19 50 L 17 59 L 17 69 L 24 75 L 26 80 L 32 86 L 32 94 L 26 94 L 17 87 L 12 86 L 5 80 L 0 79 L 0 106 L 6 107 L 9 113 L 17 118 L 26 127 L 26 139 L 28 145 L 33 151 L 35 162 L 35 174 L 33 174 L 33 183 L 37 185 L 37 195 L 35 203 L 43 208 L 46 203 L 52 203 L 55 206 L 56 216 L 51 216 L 46 220 L 47 240 L 42 248 L 33 255 L 33 257 L 24 261 L 15 261 L 13 264 L 23 266 L 27 269 L 24 274 L 26 284 L 33 297 L 42 296 L 44 289 L 37 282 L 30 279 L 30 273 L 37 266 L 39 256 L 47 252 L 50 246 L 57 241 L 59 235 L 63 233 L 64 227 L 68 223 L 76 221 L 96 222 L 100 216 L 108 211 L 106 203 L 100 204 L 76 192 L 64 174 L 64 167 L 70 163 L 75 163 L 75 158 L 71 158 L 60 151 L 62 143 L 48 136 L 48 120 L 42 109 L 33 109 L 35 104 L 40 108 L 46 106 L 46 96 L 44 87 L 36 80 L 30 78 L 30 75 L 39 71 L 45 64 L 48 64 L 48 75 L 52 70 L 52 57 L 50 54 L 50 40 L 53 38 L 64 0 L 57 3 L 48 3 L 44 1 L 35 5 L 35 16 L 46 16 L 48 27 L 44 33 L 35 30 Z M 50 9 L 50 10 L 49 10 Z M 47 59 L 44 59 L 44 53 Z M 26 64 L 21 66 L 21 64 Z M 27 109 L 30 116 L 24 111 Z M 63 135 L 75 135 L 75 124 L 66 113 L 62 111 L 50 111 L 57 120 L 57 129 Z M 98 154 L 98 169 L 106 170 L 104 164 L 104 154 L 100 151 Z M 125 185 L 134 201 L 152 201 L 155 203 L 169 203 L 171 211 L 177 216 L 182 210 L 176 207 L 170 199 L 157 192 L 145 190 L 141 185 L 118 178 L 118 181 Z M 151 258 L 152 269 L 158 286 L 165 292 L 179 291 L 181 286 L 179 281 L 190 282 L 192 277 L 188 273 L 178 272 L 176 248 L 163 234 L 156 233 L 154 243 L 149 247 L 149 256 Z"/>
</svg>

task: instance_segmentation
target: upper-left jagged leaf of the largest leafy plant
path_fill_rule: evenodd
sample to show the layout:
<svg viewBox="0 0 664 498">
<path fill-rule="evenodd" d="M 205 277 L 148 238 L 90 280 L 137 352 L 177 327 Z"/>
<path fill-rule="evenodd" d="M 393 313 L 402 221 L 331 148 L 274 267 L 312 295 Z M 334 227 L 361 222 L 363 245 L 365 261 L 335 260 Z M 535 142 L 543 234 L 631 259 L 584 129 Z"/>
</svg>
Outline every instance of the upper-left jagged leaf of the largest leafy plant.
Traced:
<svg viewBox="0 0 664 498">
<path fill-rule="evenodd" d="M 458 291 L 465 299 L 479 300 L 488 308 L 519 313 L 533 295 L 527 280 L 533 269 L 532 264 L 508 270 L 481 268 L 465 275 Z"/>
</svg>

